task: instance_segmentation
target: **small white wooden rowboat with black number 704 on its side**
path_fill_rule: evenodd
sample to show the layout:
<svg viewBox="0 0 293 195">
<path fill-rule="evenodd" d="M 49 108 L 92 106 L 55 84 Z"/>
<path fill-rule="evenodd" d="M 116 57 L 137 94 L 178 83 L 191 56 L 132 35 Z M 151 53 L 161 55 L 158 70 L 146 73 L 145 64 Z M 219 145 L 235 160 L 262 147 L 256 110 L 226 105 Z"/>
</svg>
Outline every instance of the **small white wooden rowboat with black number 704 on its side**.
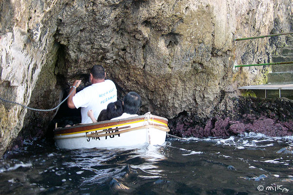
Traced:
<svg viewBox="0 0 293 195">
<path fill-rule="evenodd" d="M 138 117 L 56 127 L 54 138 L 57 147 L 64 149 L 162 145 L 169 132 L 167 123 L 167 118 L 147 113 Z"/>
</svg>

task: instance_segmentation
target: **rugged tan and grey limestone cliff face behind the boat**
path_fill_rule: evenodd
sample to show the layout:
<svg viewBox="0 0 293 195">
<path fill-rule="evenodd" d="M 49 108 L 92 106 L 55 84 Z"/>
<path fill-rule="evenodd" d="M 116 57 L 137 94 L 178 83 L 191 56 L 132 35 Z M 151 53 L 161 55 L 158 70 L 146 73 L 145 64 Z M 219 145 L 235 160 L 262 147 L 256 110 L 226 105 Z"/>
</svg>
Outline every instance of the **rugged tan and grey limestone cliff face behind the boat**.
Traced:
<svg viewBox="0 0 293 195">
<path fill-rule="evenodd" d="M 102 64 L 121 97 L 142 96 L 142 113 L 212 117 L 233 106 L 238 86 L 270 71 L 234 64 L 270 62 L 285 44 L 234 39 L 290 31 L 291 8 L 290 0 L 3 0 L 1 98 L 54 107 L 73 80 L 88 85 L 89 69 Z M 22 127 L 45 131 L 55 113 L 0 102 L 0 155 Z"/>
</svg>

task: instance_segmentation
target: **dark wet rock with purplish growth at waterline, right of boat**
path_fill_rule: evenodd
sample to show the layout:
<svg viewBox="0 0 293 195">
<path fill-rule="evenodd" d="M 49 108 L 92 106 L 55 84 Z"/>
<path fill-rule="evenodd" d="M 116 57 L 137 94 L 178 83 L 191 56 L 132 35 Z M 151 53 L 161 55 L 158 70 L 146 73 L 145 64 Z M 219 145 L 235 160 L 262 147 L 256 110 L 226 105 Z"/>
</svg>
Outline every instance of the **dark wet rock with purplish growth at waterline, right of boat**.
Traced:
<svg viewBox="0 0 293 195">
<path fill-rule="evenodd" d="M 229 137 L 255 132 L 270 137 L 293 135 L 293 100 L 287 98 L 233 98 L 230 110 L 202 119 L 183 112 L 169 120 L 172 133 L 182 137 Z"/>
</svg>

